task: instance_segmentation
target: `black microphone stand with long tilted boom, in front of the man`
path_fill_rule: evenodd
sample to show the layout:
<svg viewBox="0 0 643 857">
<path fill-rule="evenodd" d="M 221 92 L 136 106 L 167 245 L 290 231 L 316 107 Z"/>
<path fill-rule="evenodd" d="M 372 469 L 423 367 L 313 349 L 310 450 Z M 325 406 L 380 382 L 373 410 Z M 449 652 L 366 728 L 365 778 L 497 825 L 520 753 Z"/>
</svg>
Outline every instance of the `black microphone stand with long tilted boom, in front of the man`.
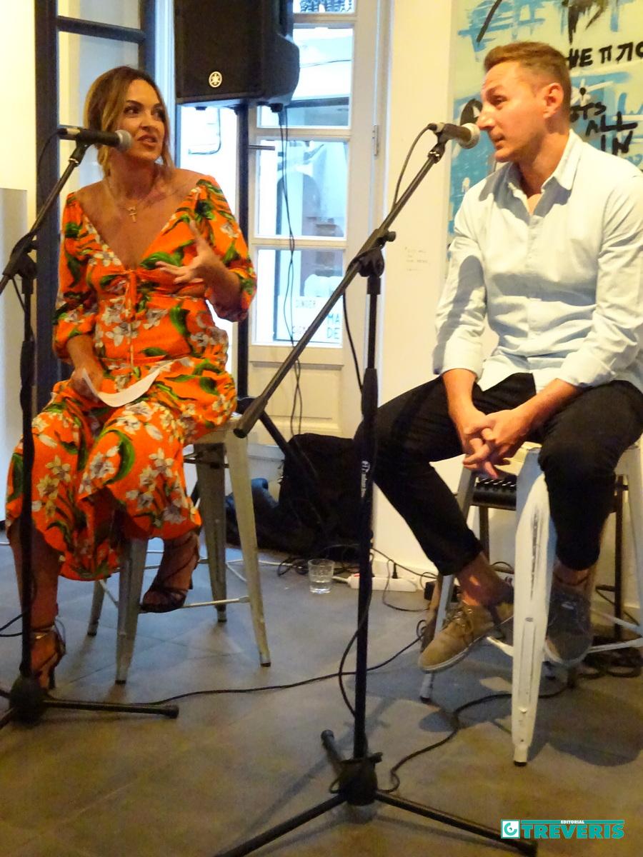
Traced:
<svg viewBox="0 0 643 857">
<path fill-rule="evenodd" d="M 376 453 L 376 438 L 375 438 L 375 419 L 377 411 L 377 373 L 376 373 L 376 308 L 377 296 L 380 294 L 381 278 L 384 271 L 384 258 L 382 256 L 383 246 L 394 241 L 395 233 L 389 231 L 388 227 L 394 222 L 406 202 L 411 198 L 418 185 L 422 182 L 430 168 L 436 164 L 442 155 L 448 142 L 447 135 L 437 135 L 436 146 L 433 147 L 425 161 L 424 165 L 418 171 L 416 177 L 412 179 L 408 188 L 401 195 L 400 200 L 394 204 L 390 213 L 382 225 L 370 235 L 358 255 L 350 262 L 346 269 L 344 279 L 337 286 L 333 294 L 328 298 L 315 320 L 311 323 L 308 330 L 303 334 L 297 345 L 293 348 L 284 363 L 281 364 L 272 380 L 268 382 L 267 387 L 257 396 L 256 399 L 244 411 L 243 417 L 237 423 L 237 428 L 234 429 L 235 434 L 240 437 L 246 437 L 250 429 L 256 421 L 261 417 L 266 408 L 267 401 L 270 399 L 275 389 L 279 387 L 285 375 L 291 369 L 292 365 L 297 361 L 297 358 L 308 345 L 310 339 L 315 334 L 317 328 L 322 324 L 322 321 L 328 315 L 328 312 L 334 306 L 334 303 L 344 294 L 352 280 L 359 273 L 367 278 L 367 293 L 369 295 L 369 333 L 367 346 L 367 365 L 364 371 L 364 384 L 362 391 L 362 417 L 363 417 L 363 460 L 362 460 L 362 502 L 360 505 L 359 518 L 359 589 L 358 589 L 358 628 L 356 632 L 357 638 L 357 661 L 355 668 L 355 710 L 354 710 L 354 732 L 353 732 L 353 754 L 352 758 L 342 758 L 335 744 L 334 734 L 330 729 L 325 729 L 322 732 L 322 744 L 328 752 L 331 764 L 337 774 L 337 794 L 328 800 L 322 801 L 300 812 L 296 816 L 288 819 L 281 824 L 277 824 L 270 830 L 266 830 L 258 836 L 253 836 L 246 842 L 242 842 L 235 848 L 230 848 L 226 851 L 221 851 L 217 857 L 243 857 L 243 854 L 250 854 L 267 842 L 273 842 L 279 836 L 284 836 L 291 830 L 295 830 L 306 822 L 312 821 L 324 812 L 333 809 L 334 806 L 340 804 L 349 804 L 350 806 L 370 806 L 376 800 L 390 806 L 396 806 L 399 809 L 407 810 L 415 815 L 424 816 L 424 818 L 433 818 L 443 824 L 448 824 L 452 827 L 457 827 L 460 830 L 466 830 L 469 833 L 475 833 L 478 836 L 484 836 L 486 839 L 491 839 L 494 842 L 500 842 L 515 848 L 521 854 L 536 854 L 537 843 L 529 842 L 524 839 L 502 839 L 500 834 L 490 827 L 483 824 L 476 824 L 468 821 L 466 818 L 460 818 L 454 815 L 448 815 L 444 812 L 439 812 L 429 806 L 415 803 L 412 800 L 403 800 L 394 797 L 388 792 L 384 792 L 377 788 L 377 776 L 375 766 L 381 761 L 381 752 L 370 752 L 368 741 L 366 739 L 365 720 L 366 720 L 366 680 L 367 680 L 367 655 L 368 655 L 368 634 L 369 634 L 369 605 L 370 596 L 373 589 L 372 571 L 370 560 L 370 547 L 372 541 L 372 509 L 373 509 L 373 463 Z"/>
</svg>

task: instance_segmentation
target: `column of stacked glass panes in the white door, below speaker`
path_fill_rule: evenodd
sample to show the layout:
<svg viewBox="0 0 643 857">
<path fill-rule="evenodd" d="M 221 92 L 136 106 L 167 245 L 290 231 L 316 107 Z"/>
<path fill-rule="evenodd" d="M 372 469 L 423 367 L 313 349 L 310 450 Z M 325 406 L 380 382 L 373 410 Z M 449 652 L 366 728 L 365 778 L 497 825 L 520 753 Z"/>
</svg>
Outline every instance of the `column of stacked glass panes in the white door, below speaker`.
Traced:
<svg viewBox="0 0 643 857">
<path fill-rule="evenodd" d="M 256 111 L 250 242 L 261 289 L 256 345 L 290 345 L 339 285 L 345 267 L 355 30 L 352 0 L 294 3 L 299 82 L 291 104 Z M 337 303 L 312 339 L 342 346 Z"/>
</svg>

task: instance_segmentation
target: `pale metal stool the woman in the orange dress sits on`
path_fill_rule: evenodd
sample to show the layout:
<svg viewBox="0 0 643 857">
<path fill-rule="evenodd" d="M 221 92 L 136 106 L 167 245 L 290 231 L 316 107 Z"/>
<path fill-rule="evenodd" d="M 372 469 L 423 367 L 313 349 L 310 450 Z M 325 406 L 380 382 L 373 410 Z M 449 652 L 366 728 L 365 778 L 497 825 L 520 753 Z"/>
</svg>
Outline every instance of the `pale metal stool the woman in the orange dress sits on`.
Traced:
<svg viewBox="0 0 643 857">
<path fill-rule="evenodd" d="M 204 434 L 195 441 L 194 453 L 185 460 L 196 465 L 196 478 L 199 487 L 199 511 L 203 521 L 207 547 L 207 566 L 210 572 L 213 601 L 192 602 L 182 609 L 213 606 L 217 609 L 219 622 L 225 621 L 225 608 L 228 604 L 249 603 L 255 640 L 262 666 L 270 665 L 270 652 L 267 645 L 266 625 L 263 618 L 261 598 L 261 580 L 257 558 L 255 512 L 252 505 L 252 491 L 248 466 L 248 440 L 238 438 L 233 432 L 238 417 L 234 416 L 220 428 Z M 225 580 L 225 461 L 227 459 L 232 483 L 232 494 L 237 510 L 239 540 L 243 554 L 248 594 L 239 598 L 228 598 Z M 147 541 L 136 539 L 130 542 L 128 554 L 119 572 L 118 598 L 112 598 L 104 580 L 97 580 L 93 589 L 92 611 L 87 633 L 95 636 L 105 592 L 118 608 L 116 681 L 124 684 L 127 680 L 129 663 L 134 653 L 136 626 L 138 623 L 139 603 Z M 201 560 L 202 561 L 202 560 Z"/>
</svg>

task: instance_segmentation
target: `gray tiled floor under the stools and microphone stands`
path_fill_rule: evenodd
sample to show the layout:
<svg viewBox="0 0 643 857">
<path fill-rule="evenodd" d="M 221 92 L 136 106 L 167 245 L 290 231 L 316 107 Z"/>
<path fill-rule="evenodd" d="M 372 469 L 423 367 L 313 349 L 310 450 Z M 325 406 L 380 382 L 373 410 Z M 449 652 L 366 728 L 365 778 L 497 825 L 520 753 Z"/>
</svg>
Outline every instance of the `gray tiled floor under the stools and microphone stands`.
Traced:
<svg viewBox="0 0 643 857">
<path fill-rule="evenodd" d="M 0 624 L 17 612 L 8 548 L 0 548 Z M 244 606 L 217 625 L 208 608 L 141 616 L 125 687 L 113 685 L 115 611 L 105 604 L 99 635 L 87 638 L 91 586 L 63 582 L 61 617 L 68 651 L 56 694 L 147 701 L 209 688 L 285 684 L 334 672 L 354 630 L 357 593 L 335 584 L 312 596 L 305 578 L 262 566 L 271 668 L 257 659 Z M 233 575 L 231 590 L 241 592 Z M 195 575 L 195 599 L 207 574 Z M 420 608 L 420 596 L 389 600 Z M 410 642 L 420 614 L 382 604 L 370 614 L 370 663 Z M 16 672 L 19 642 L 0 640 L 0 684 Z M 434 700 L 418 699 L 414 647 L 370 674 L 368 734 L 382 788 L 407 753 L 449 732 L 447 710 L 508 690 L 509 663 L 490 646 L 436 681 Z M 557 683 L 545 680 L 544 690 Z M 351 680 L 348 680 L 349 692 Z M 208 857 L 326 800 L 333 772 L 320 742 L 332 728 L 352 750 L 352 722 L 336 680 L 281 691 L 184 699 L 175 721 L 49 711 L 39 724 L 0 733 L 0 851 L 3 857 Z M 500 818 L 625 818 L 625 837 L 542 842 L 539 854 L 638 855 L 641 681 L 581 680 L 542 701 L 532 758 L 512 763 L 508 699 L 466 710 L 453 740 L 406 764 L 399 793 L 443 812 L 497 828 Z M 273 855 L 511 854 L 471 834 L 389 806 L 339 807 L 264 848 Z"/>
</svg>

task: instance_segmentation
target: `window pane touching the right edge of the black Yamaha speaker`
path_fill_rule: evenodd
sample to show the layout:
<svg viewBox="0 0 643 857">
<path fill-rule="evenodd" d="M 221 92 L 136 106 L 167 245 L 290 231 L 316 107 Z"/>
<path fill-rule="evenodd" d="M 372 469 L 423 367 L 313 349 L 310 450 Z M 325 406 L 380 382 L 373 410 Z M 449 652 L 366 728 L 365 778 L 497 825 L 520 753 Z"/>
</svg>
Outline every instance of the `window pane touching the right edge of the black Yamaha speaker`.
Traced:
<svg viewBox="0 0 643 857">
<path fill-rule="evenodd" d="M 346 128 L 352 75 L 352 27 L 295 27 L 299 82 L 287 108 L 287 123 Z M 259 124 L 274 128 L 279 117 L 261 107 Z"/>
</svg>

